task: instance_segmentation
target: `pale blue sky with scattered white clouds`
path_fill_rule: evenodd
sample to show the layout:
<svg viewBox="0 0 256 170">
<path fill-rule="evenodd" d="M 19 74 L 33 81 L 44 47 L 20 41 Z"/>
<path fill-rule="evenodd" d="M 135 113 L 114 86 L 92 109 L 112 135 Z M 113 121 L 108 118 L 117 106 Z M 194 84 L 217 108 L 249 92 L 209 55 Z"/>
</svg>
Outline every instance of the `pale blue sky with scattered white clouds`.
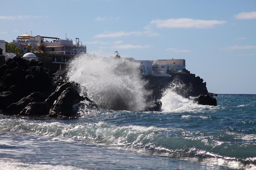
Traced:
<svg viewBox="0 0 256 170">
<path fill-rule="evenodd" d="M 210 93 L 256 94 L 256 1 L 3 1 L 0 40 L 79 38 L 88 53 L 185 59 Z"/>
</svg>

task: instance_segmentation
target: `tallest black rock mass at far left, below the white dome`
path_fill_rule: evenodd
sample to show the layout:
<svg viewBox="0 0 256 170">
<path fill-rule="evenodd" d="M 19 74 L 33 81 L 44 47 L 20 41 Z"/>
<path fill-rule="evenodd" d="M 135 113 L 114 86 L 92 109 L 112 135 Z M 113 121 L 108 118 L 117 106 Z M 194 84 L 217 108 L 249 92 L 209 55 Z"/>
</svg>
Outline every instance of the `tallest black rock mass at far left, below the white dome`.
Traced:
<svg viewBox="0 0 256 170">
<path fill-rule="evenodd" d="M 28 61 L 14 57 L 8 59 L 6 64 L 0 67 L 0 109 L 4 111 L 11 104 L 19 102 L 23 97 L 34 92 L 49 96 L 55 91 L 57 84 L 49 76 L 49 71 L 37 64 L 38 62 L 34 60 Z M 17 103 L 17 106 L 25 105 L 21 103 L 22 101 Z M 8 109 L 8 112 L 11 112 L 11 108 L 14 109 L 14 105 Z M 18 110 L 14 111 L 14 114 Z"/>
</svg>

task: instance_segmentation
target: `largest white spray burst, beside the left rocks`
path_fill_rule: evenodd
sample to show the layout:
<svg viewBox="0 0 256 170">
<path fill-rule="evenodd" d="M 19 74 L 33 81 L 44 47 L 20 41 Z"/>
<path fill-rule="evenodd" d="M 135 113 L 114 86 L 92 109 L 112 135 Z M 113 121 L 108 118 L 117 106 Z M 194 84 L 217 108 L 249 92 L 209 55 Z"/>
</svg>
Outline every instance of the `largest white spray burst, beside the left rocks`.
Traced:
<svg viewBox="0 0 256 170">
<path fill-rule="evenodd" d="M 80 54 L 70 63 L 68 77 L 87 88 L 100 109 L 143 111 L 150 92 L 141 79 L 141 64 L 102 54 Z"/>
</svg>

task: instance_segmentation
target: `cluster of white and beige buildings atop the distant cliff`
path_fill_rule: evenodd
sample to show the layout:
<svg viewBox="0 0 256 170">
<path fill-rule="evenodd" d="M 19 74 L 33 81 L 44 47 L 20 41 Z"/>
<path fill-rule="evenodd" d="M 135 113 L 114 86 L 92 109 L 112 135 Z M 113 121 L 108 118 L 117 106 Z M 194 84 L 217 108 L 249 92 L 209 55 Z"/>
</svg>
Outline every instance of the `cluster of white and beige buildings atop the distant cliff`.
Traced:
<svg viewBox="0 0 256 170">
<path fill-rule="evenodd" d="M 170 72 L 183 72 L 186 69 L 184 59 L 139 60 L 144 75 L 170 76 Z"/>
</svg>

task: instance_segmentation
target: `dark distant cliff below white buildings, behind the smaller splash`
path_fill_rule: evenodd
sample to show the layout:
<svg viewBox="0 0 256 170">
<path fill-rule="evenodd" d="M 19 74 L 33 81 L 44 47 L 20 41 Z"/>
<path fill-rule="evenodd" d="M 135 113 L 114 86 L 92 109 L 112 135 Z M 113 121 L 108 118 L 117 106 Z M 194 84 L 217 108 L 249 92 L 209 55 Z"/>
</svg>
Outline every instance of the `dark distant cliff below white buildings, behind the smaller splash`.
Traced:
<svg viewBox="0 0 256 170">
<path fill-rule="evenodd" d="M 170 73 L 170 77 L 164 76 L 143 76 L 148 80 L 148 90 L 152 90 L 156 98 L 161 99 L 167 88 L 172 88 L 175 93 L 185 98 L 189 96 L 197 97 L 199 95 L 207 95 L 206 82 L 199 76 L 190 73 Z"/>
</svg>

